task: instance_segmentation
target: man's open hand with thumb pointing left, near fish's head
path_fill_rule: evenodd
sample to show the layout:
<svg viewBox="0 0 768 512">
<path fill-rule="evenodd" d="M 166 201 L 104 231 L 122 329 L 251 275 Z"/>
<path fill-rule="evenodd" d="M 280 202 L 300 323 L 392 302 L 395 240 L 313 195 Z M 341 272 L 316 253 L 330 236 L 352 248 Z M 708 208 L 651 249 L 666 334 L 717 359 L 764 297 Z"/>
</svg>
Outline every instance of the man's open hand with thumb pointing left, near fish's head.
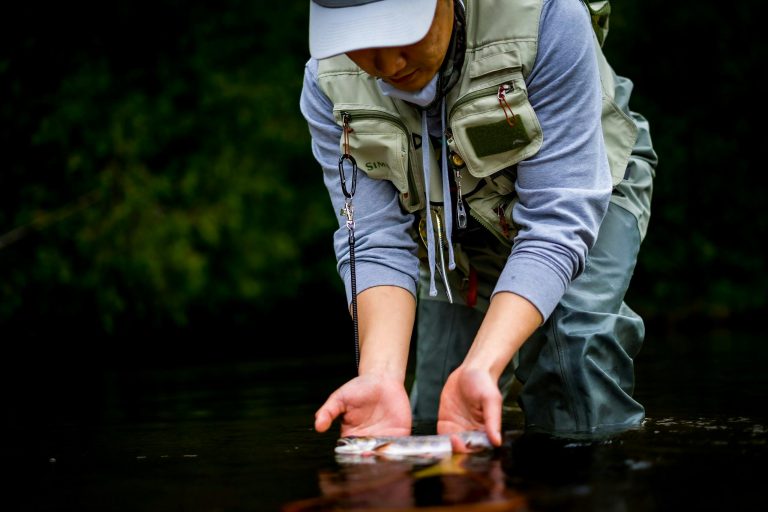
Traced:
<svg viewBox="0 0 768 512">
<path fill-rule="evenodd" d="M 342 437 L 411 433 L 408 394 L 392 377 L 361 375 L 341 386 L 315 413 L 315 430 L 325 432 L 338 417 Z"/>
</svg>

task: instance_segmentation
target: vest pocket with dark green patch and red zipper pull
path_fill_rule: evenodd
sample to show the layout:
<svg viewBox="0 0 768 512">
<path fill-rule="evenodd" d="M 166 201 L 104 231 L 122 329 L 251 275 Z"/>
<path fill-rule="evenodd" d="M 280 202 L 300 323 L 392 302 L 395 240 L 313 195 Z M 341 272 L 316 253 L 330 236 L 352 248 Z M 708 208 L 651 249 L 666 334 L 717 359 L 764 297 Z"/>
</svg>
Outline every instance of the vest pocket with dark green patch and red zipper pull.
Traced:
<svg viewBox="0 0 768 512">
<path fill-rule="evenodd" d="M 543 140 L 522 76 L 459 98 L 449 124 L 451 149 L 476 177 L 489 176 L 535 154 Z"/>
</svg>

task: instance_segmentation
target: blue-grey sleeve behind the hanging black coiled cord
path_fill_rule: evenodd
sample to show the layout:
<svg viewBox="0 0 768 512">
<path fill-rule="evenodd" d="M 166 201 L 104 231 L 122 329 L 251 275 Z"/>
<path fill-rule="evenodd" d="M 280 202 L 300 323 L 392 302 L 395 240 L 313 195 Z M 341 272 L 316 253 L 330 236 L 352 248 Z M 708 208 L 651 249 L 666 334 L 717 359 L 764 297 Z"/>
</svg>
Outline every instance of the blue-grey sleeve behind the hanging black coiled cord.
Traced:
<svg viewBox="0 0 768 512">
<path fill-rule="evenodd" d="M 317 61 L 310 59 L 304 72 L 300 109 L 307 120 L 312 154 L 323 171 L 331 204 L 339 218 L 333 235 L 337 270 L 344 281 L 347 303 L 352 300 L 349 231 L 346 217 L 339 213 L 344 194 L 339 177 L 341 127 L 334 122 L 333 105 L 317 84 Z M 346 168 L 346 179 L 351 170 Z M 355 278 L 357 292 L 381 285 L 399 286 L 416 296 L 419 262 L 417 245 L 410 234 L 413 215 L 400 207 L 398 191 L 387 180 L 368 177 L 358 171 L 354 207 Z"/>
</svg>

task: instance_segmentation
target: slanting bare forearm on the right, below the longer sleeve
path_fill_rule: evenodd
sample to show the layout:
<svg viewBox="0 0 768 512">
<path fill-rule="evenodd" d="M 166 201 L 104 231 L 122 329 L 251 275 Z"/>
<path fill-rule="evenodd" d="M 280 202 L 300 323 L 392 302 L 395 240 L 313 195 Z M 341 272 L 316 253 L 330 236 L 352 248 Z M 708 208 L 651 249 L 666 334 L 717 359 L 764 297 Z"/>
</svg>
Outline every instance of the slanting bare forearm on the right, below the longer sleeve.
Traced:
<svg viewBox="0 0 768 512">
<path fill-rule="evenodd" d="M 542 321 L 541 313 L 528 300 L 514 293 L 497 293 L 462 366 L 488 371 L 498 379 Z"/>
</svg>

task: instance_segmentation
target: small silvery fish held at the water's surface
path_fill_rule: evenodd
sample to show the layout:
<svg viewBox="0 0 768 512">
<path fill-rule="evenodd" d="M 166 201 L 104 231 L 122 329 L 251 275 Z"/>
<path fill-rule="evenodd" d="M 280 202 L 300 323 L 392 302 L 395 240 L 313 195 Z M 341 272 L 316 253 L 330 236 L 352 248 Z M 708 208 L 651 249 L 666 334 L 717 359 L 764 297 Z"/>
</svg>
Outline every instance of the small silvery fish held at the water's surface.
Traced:
<svg viewBox="0 0 768 512">
<path fill-rule="evenodd" d="M 468 430 L 455 434 L 420 436 L 347 436 L 337 441 L 335 452 L 341 455 L 380 455 L 395 458 L 450 455 L 453 453 L 452 435 L 464 443 L 467 452 L 493 449 L 485 432 Z"/>
</svg>

